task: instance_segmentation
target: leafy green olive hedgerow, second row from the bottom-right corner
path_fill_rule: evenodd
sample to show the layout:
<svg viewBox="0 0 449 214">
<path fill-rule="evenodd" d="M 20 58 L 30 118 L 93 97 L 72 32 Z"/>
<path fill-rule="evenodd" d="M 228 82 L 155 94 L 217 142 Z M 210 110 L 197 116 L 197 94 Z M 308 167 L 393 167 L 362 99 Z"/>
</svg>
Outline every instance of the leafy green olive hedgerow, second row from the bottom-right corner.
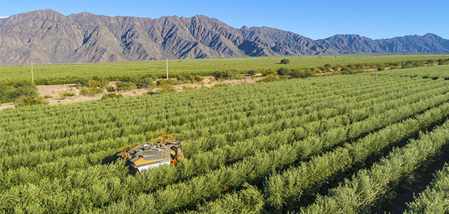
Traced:
<svg viewBox="0 0 449 214">
<path fill-rule="evenodd" d="M 367 213 L 388 198 L 399 183 L 413 178 L 413 171 L 420 165 L 433 163 L 435 156 L 441 156 L 448 142 L 449 122 L 446 122 L 435 131 L 422 134 L 418 141 L 394 149 L 371 169 L 359 170 L 351 180 L 332 189 L 329 196 L 318 197 L 302 213 Z"/>
</svg>

